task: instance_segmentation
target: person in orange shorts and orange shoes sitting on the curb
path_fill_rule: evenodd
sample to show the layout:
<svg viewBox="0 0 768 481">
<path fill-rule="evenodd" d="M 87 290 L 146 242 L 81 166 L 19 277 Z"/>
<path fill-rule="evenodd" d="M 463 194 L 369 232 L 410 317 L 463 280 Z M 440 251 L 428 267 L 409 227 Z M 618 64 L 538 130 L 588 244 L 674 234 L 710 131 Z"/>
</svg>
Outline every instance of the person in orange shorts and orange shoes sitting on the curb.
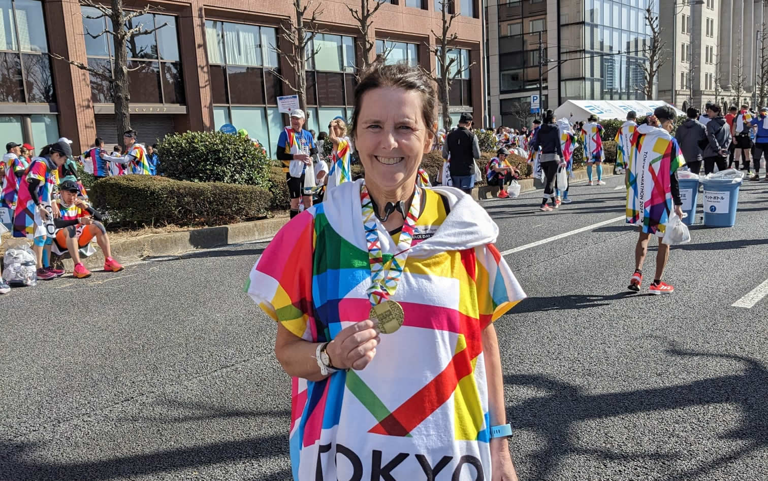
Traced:
<svg viewBox="0 0 768 481">
<path fill-rule="evenodd" d="M 80 249 L 96 238 L 101 252 L 104 253 L 104 271 L 120 272 L 123 266 L 112 259 L 107 229 L 101 221 L 101 213 L 88 206 L 83 199 L 78 199 L 78 184 L 65 180 L 58 188 L 61 199 L 58 200 L 61 219 L 54 219 L 56 227 L 55 242 L 59 250 L 69 251 L 74 262 L 73 277 L 86 278 L 91 272 L 80 260 Z"/>
</svg>

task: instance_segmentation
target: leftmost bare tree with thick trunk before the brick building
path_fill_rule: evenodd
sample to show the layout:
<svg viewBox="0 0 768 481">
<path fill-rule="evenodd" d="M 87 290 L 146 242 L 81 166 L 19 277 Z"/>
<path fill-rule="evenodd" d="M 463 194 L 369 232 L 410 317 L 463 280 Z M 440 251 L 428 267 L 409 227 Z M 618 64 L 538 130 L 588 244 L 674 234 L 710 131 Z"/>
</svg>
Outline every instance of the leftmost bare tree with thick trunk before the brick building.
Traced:
<svg viewBox="0 0 768 481">
<path fill-rule="evenodd" d="M 102 35 L 111 36 L 114 46 L 114 62 L 112 70 L 103 68 L 102 66 L 91 67 L 82 62 L 62 57 L 59 54 L 49 55 L 51 55 L 51 58 L 65 61 L 81 70 L 88 71 L 88 73 L 91 74 L 91 77 L 97 77 L 98 80 L 105 82 L 109 86 L 112 101 L 114 102 L 115 123 L 118 127 L 118 142 L 121 143 L 122 146 L 123 133 L 131 128 L 131 91 L 129 89 L 128 72 L 138 70 L 142 67 L 140 64 L 137 68 L 128 68 L 127 48 L 131 47 L 133 48 L 132 51 L 136 51 L 137 37 L 153 34 L 155 31 L 168 24 L 166 22 L 155 28 L 144 28 L 144 24 L 138 21 L 137 18 L 141 17 L 141 15 L 160 12 L 161 8 L 157 6 L 147 5 L 140 10 L 125 10 L 123 7 L 123 0 L 111 0 L 109 6 L 104 5 L 103 3 L 93 2 L 93 0 L 83 0 L 82 5 L 95 8 L 100 12 L 100 15 L 83 15 L 84 18 L 90 18 L 92 20 L 108 18 L 111 21 L 111 25 L 113 25 L 112 30 L 104 28 L 104 30 L 95 34 L 87 29 L 85 31 L 85 35 L 88 35 L 91 38 L 99 38 Z M 93 82 L 93 80 L 94 79 L 91 79 L 91 82 Z"/>
</svg>

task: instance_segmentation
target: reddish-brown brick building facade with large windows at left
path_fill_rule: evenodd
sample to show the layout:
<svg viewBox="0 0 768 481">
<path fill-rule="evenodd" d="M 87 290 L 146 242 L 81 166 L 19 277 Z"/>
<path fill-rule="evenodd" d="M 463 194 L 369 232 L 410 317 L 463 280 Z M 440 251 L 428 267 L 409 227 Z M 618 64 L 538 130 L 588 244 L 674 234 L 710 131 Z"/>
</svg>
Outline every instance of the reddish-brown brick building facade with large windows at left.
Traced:
<svg viewBox="0 0 768 481">
<path fill-rule="evenodd" d="M 371 35 L 387 61 L 408 61 L 429 71 L 437 61 L 429 45 L 440 31 L 442 0 L 389 0 L 372 21 Z M 322 4 L 322 5 L 321 5 Z M 69 137 L 84 150 L 97 135 L 117 140 L 114 106 L 108 81 L 48 52 L 88 64 L 105 73 L 114 68 L 114 51 L 104 18 L 75 0 L 0 0 L 0 55 L 5 61 L 0 81 L 0 133 L 6 142 L 35 145 Z M 147 2 L 126 2 L 139 9 Z M 139 140 L 152 143 L 166 133 L 215 130 L 232 123 L 250 137 L 275 148 L 287 123 L 276 97 L 293 91 L 280 77 L 293 78 L 285 58 L 273 46 L 288 50 L 281 25 L 295 16 L 293 2 L 279 0 L 193 0 L 152 2 L 157 13 L 133 18 L 130 27 L 159 28 L 128 45 L 131 127 Z M 319 52 L 307 64 L 306 128 L 326 130 L 329 120 L 351 116 L 353 89 L 362 64 L 359 28 L 347 5 L 359 2 L 316 2 L 323 33 L 314 39 Z M 455 0 L 459 12 L 452 31 L 458 35 L 455 66 L 462 74 L 450 91 L 451 114 L 484 114 L 482 24 L 479 0 Z M 45 26 L 45 28 L 41 28 Z M 372 52 L 372 57 L 376 51 Z"/>
</svg>

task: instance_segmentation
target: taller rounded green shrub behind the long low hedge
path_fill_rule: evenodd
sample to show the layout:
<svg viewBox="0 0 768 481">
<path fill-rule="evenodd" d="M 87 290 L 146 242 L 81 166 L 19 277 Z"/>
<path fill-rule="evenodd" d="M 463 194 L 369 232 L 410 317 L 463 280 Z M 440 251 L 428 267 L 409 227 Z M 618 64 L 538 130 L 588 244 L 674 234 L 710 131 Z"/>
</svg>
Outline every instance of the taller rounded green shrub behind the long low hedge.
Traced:
<svg viewBox="0 0 768 481">
<path fill-rule="evenodd" d="M 175 180 L 268 186 L 270 160 L 245 137 L 221 132 L 167 135 L 157 145 L 160 173 Z"/>
</svg>

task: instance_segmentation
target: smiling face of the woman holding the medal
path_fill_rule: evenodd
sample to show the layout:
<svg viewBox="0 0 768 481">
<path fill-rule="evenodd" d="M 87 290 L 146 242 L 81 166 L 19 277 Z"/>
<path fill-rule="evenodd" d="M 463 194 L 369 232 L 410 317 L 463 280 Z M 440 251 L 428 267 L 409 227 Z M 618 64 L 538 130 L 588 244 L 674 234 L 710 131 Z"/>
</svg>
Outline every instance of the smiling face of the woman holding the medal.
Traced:
<svg viewBox="0 0 768 481">
<path fill-rule="evenodd" d="M 366 170 L 366 183 L 397 189 L 415 182 L 432 133 L 422 117 L 421 95 L 397 87 L 363 94 L 355 127 L 355 146 Z"/>
</svg>

